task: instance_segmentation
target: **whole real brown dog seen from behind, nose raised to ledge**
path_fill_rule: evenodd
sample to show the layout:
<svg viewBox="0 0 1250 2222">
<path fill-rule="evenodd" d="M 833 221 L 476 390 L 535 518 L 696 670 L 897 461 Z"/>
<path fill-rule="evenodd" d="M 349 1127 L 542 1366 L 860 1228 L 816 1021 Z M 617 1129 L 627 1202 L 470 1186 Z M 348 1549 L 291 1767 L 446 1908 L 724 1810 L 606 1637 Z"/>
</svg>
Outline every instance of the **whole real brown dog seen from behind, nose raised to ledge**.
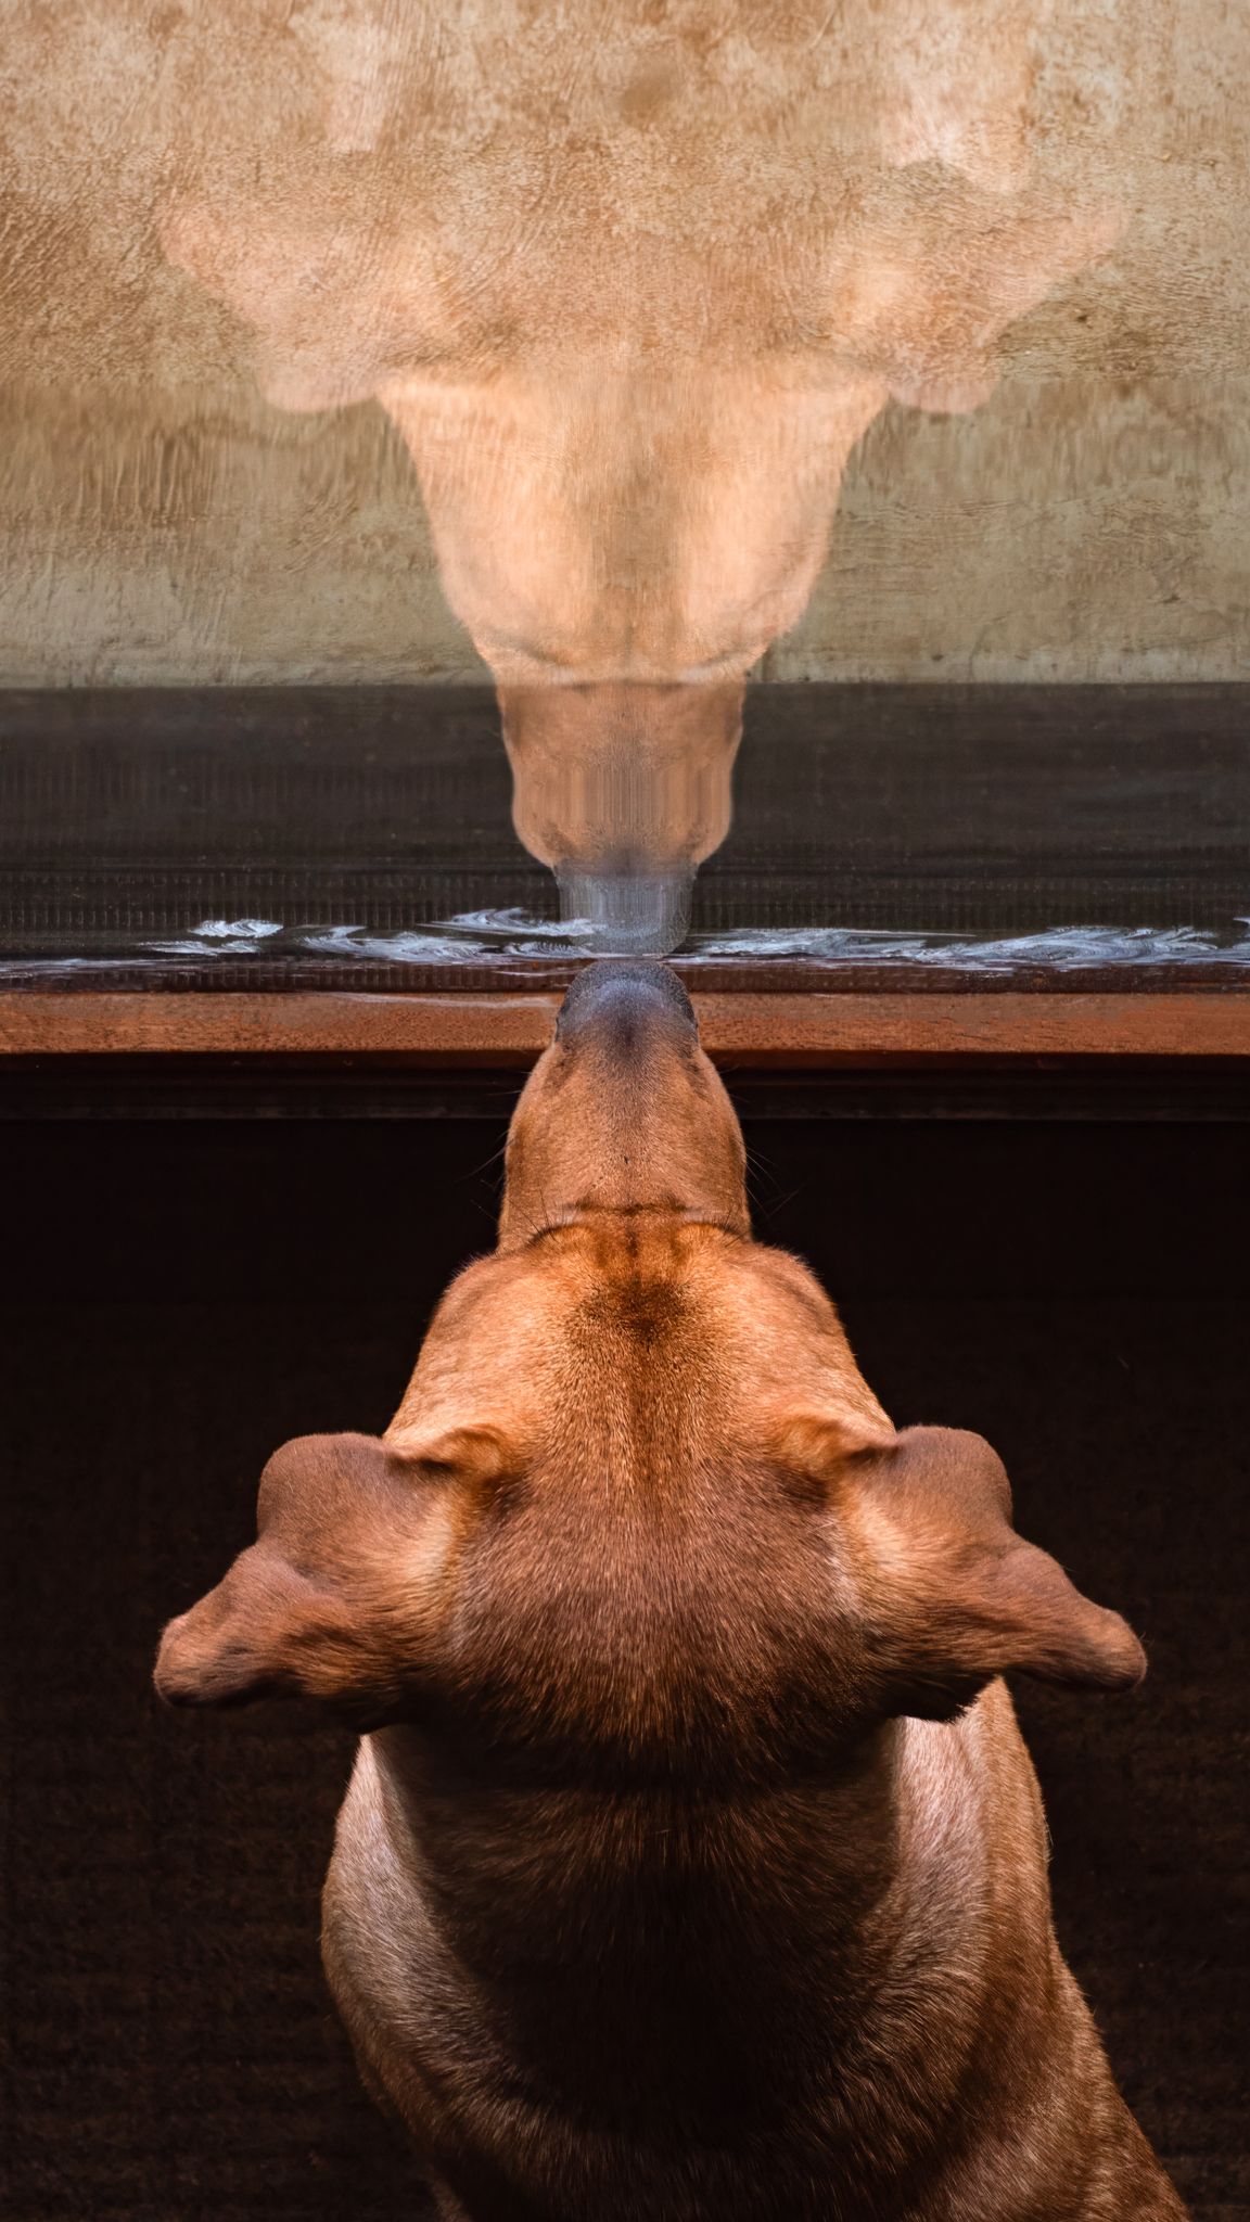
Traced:
<svg viewBox="0 0 1250 2222">
<path fill-rule="evenodd" d="M 365 1731 L 325 1964 L 445 2215 L 1174 2218 L 1054 1942 L 1003 1671 L 1143 1655 L 1014 1535 L 985 1442 L 892 1431 L 750 1240 L 676 980 L 603 964 L 387 1438 L 276 1453 L 156 1680 Z"/>
</svg>

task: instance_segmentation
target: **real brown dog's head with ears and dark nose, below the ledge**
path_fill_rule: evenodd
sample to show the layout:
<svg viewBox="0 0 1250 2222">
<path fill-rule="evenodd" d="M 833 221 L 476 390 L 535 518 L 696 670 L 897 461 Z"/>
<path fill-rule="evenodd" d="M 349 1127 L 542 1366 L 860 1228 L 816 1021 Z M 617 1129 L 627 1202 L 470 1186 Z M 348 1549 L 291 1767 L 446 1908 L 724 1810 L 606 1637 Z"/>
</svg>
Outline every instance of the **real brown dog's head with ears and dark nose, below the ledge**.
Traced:
<svg viewBox="0 0 1250 2222">
<path fill-rule="evenodd" d="M 516 1111 L 498 1251 L 445 1295 L 389 1438 L 276 1453 L 260 1540 L 156 1680 L 696 1773 L 950 1718 L 1010 1671 L 1125 1689 L 1143 1653 L 1014 1533 L 981 1438 L 894 1433 L 819 1284 L 750 1240 L 681 987 L 603 964 Z"/>
</svg>

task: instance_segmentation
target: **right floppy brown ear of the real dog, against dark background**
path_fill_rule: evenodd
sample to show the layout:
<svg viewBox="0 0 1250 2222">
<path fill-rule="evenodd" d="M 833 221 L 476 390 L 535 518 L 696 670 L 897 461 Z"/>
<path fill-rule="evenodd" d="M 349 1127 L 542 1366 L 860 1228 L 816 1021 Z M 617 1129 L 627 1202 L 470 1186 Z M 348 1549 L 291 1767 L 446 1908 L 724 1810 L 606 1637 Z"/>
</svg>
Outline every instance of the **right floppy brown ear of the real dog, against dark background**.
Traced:
<svg viewBox="0 0 1250 2222">
<path fill-rule="evenodd" d="M 1145 1653 L 1012 1527 L 1012 1491 L 981 1435 L 912 1427 L 836 1440 L 830 1495 L 850 1542 L 874 1680 L 896 1713 L 945 1720 L 992 1675 L 1132 1689 Z"/>
</svg>

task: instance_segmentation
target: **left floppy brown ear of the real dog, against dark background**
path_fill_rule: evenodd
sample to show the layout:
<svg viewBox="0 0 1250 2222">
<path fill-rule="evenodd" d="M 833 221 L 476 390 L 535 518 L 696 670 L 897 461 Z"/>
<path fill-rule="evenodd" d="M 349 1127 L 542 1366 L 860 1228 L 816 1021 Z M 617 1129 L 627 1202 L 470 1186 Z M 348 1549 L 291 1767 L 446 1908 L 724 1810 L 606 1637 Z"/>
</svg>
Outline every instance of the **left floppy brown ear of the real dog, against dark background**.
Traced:
<svg viewBox="0 0 1250 2222">
<path fill-rule="evenodd" d="M 376 1435 L 300 1435 L 260 1478 L 258 1542 L 165 1629 L 156 1689 L 169 1704 L 320 1698 L 360 1724 L 396 1718 L 420 1686 L 438 1564 L 460 1478 L 500 1471 L 492 1429 L 418 1451 Z"/>
</svg>

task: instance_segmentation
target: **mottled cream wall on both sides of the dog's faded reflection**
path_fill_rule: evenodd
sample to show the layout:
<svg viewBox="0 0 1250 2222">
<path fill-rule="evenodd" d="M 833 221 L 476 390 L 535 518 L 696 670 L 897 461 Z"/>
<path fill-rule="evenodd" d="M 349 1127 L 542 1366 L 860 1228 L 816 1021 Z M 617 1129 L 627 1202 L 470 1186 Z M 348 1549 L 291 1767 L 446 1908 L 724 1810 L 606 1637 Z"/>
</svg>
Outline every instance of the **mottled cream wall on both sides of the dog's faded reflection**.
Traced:
<svg viewBox="0 0 1250 2222">
<path fill-rule="evenodd" d="M 256 0 L 258 36 L 289 13 Z M 1250 671 L 1250 11 L 1083 22 L 1121 240 L 976 411 L 870 427 L 770 678 Z M 380 407 L 269 407 L 247 327 L 162 256 L 176 40 L 142 0 L 9 0 L 0 684 L 483 678 Z"/>
</svg>

